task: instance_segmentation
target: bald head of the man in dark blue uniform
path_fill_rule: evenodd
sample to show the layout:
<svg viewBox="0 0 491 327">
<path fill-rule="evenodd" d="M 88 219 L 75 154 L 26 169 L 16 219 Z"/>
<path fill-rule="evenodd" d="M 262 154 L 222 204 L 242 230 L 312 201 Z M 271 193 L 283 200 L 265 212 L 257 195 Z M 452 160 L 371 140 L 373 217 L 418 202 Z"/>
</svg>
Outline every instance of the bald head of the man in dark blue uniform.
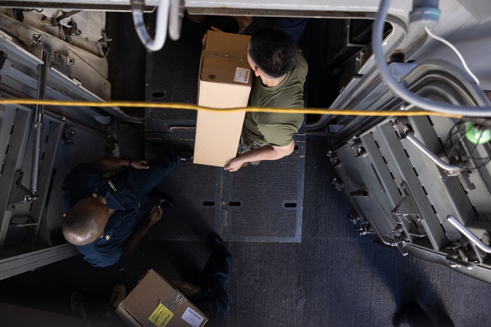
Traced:
<svg viewBox="0 0 491 327">
<path fill-rule="evenodd" d="M 62 231 L 73 245 L 87 245 L 104 233 L 109 209 L 104 197 L 82 199 L 66 213 Z"/>
</svg>

